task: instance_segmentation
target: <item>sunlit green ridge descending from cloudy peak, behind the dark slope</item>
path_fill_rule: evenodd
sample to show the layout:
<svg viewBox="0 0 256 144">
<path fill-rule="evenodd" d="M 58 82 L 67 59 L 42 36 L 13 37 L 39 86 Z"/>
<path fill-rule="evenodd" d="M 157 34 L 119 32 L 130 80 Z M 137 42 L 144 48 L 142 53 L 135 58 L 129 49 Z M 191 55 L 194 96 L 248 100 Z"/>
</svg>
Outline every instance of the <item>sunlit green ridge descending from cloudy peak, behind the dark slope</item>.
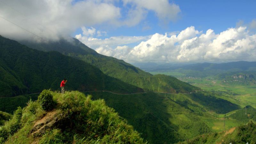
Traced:
<svg viewBox="0 0 256 144">
<path fill-rule="evenodd" d="M 199 90 L 199 88 L 181 82 L 174 77 L 165 75 L 153 76 L 140 68 L 124 62 L 124 60 L 101 55 L 75 38 L 70 38 L 69 40 L 61 39 L 57 42 L 48 43 L 33 43 L 28 41 L 22 41 L 20 43 L 33 49 L 58 51 L 73 58 L 83 60 L 99 68 L 104 74 L 140 87 L 145 91 L 188 93 Z"/>
</svg>

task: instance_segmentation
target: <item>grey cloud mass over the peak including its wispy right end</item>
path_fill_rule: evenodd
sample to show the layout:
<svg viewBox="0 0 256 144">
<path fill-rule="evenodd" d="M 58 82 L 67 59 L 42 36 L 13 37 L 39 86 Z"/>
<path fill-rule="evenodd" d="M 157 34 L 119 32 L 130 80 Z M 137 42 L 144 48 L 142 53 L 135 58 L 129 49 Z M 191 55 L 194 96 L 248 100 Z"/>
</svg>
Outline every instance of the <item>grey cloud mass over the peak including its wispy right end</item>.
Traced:
<svg viewBox="0 0 256 144">
<path fill-rule="evenodd" d="M 92 26 L 135 26 L 149 11 L 169 21 L 180 8 L 168 0 L 1 0 L 0 35 L 15 40 L 58 40 L 82 27 L 84 36 L 105 36 L 105 31 L 95 31 Z"/>
</svg>

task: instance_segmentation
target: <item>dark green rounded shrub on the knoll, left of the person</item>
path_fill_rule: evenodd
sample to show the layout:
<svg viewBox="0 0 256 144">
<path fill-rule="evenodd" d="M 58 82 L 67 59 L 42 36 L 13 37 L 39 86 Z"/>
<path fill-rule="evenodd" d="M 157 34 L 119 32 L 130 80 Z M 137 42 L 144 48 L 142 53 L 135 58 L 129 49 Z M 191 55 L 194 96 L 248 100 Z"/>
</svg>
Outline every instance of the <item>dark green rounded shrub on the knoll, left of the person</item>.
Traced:
<svg viewBox="0 0 256 144">
<path fill-rule="evenodd" d="M 52 110 L 54 106 L 54 102 L 52 99 L 52 92 L 50 90 L 43 90 L 43 92 L 40 93 L 38 96 L 39 104 L 42 106 L 42 108 L 46 111 Z"/>
</svg>

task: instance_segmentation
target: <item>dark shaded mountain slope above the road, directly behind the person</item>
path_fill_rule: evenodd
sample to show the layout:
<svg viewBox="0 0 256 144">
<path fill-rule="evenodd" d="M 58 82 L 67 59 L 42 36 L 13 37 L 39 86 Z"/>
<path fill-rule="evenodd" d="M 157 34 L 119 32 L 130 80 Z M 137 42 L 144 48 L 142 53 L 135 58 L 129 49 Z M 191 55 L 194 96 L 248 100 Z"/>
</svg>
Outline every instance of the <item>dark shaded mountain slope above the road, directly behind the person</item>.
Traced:
<svg viewBox="0 0 256 144">
<path fill-rule="evenodd" d="M 0 36 L 0 97 L 66 89 L 79 91 L 108 90 L 119 93 L 143 92 L 141 88 L 105 75 L 100 69 L 59 52 L 30 49 Z"/>
</svg>

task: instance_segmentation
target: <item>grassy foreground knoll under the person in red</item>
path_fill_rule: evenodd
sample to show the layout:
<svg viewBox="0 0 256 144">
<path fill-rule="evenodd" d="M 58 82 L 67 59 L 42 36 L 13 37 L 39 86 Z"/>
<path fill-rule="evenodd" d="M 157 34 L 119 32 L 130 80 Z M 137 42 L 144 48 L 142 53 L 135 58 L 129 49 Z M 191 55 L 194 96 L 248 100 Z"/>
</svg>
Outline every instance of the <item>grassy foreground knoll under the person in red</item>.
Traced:
<svg viewBox="0 0 256 144">
<path fill-rule="evenodd" d="M 62 95 L 45 90 L 40 96 L 47 94 L 53 96 L 54 109 L 45 111 L 40 101 L 18 108 L 0 127 L 0 143 L 145 143 L 104 100 L 77 91 Z"/>
</svg>

